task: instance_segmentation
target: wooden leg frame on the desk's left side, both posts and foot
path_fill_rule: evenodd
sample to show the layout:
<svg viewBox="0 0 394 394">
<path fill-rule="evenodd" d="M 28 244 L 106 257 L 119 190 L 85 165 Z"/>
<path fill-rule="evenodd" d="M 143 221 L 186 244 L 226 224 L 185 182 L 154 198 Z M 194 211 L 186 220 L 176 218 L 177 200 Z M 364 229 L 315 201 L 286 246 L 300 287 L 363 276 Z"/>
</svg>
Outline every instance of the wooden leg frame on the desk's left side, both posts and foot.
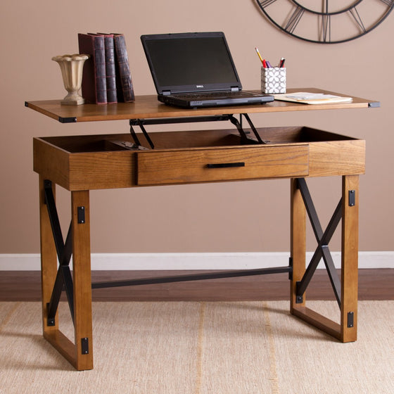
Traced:
<svg viewBox="0 0 394 394">
<path fill-rule="evenodd" d="M 50 183 L 49 183 L 50 184 Z M 89 191 L 71 192 L 72 255 L 73 255 L 73 320 L 75 343 L 60 330 L 58 312 L 48 319 L 49 303 L 58 275 L 58 254 L 53 228 L 45 200 L 48 181 L 39 179 L 39 208 L 42 262 L 42 318 L 44 338 L 65 357 L 75 369 L 93 368 L 93 343 L 91 327 L 91 270 L 90 270 L 90 221 Z M 55 184 L 51 184 L 53 199 Z M 53 201 L 54 202 L 54 201 Z M 51 204 L 53 205 L 53 204 Z M 56 207 L 55 207 L 56 209 Z M 51 216 L 53 220 L 53 215 Z M 57 217 L 57 213 L 56 213 Z M 61 234 L 56 231 L 58 247 L 63 249 Z M 60 238 L 59 238 L 60 237 Z M 59 246 L 60 244 L 60 246 Z M 61 252 L 63 258 L 63 252 Z"/>
</svg>

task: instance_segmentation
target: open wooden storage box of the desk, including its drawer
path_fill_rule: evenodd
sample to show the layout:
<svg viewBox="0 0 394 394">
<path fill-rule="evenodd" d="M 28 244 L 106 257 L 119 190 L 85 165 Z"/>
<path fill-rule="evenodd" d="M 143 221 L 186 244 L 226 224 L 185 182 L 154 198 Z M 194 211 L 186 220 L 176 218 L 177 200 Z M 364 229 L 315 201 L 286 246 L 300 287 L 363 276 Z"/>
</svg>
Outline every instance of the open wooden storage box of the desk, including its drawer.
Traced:
<svg viewBox="0 0 394 394">
<path fill-rule="evenodd" d="M 234 129 L 152 132 L 146 150 L 128 149 L 130 134 L 34 138 L 34 171 L 68 190 L 364 173 L 363 140 L 308 127 L 258 132 L 267 144 L 242 145 Z"/>
</svg>

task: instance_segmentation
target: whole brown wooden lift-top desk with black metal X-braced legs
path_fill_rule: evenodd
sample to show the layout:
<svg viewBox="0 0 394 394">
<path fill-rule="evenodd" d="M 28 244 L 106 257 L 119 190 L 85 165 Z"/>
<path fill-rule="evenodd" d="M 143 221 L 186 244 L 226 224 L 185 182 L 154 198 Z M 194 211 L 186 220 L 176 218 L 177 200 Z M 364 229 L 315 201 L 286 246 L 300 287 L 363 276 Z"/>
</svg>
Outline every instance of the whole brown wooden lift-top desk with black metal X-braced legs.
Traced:
<svg viewBox="0 0 394 394">
<path fill-rule="evenodd" d="M 130 120 L 131 125 L 143 124 L 141 133 L 135 133 L 132 128 L 132 134 L 52 136 L 33 141 L 34 171 L 39 174 L 44 337 L 76 369 L 93 368 L 92 287 L 288 272 L 291 313 L 339 341 L 356 341 L 359 175 L 365 170 L 365 141 L 310 127 L 254 129 L 251 124 L 249 130 L 241 125 L 241 116 L 240 121 L 236 121 L 233 115 L 368 108 L 379 103 L 353 98 L 351 103 L 325 105 L 274 101 L 254 106 L 188 110 L 165 106 L 155 96 L 137 96 L 135 103 L 104 106 L 61 106 L 60 101 L 28 101 L 25 105 L 63 123 Z M 146 123 L 137 121 L 182 122 L 212 116 L 217 120 L 231 120 L 236 127 L 155 132 L 152 142 L 144 129 Z M 248 120 L 248 115 L 245 117 Z M 343 179 L 342 198 L 323 230 L 305 179 L 333 175 Z M 91 284 L 89 190 L 272 178 L 291 179 L 291 253 L 287 267 Z M 71 192 L 72 219 L 65 240 L 56 210 L 56 184 Z M 314 229 L 317 250 L 306 267 L 307 217 Z M 342 222 L 341 278 L 336 274 L 328 245 L 339 222 Z M 341 310 L 340 324 L 305 304 L 307 285 L 322 258 Z M 74 343 L 58 326 L 57 307 L 63 288 L 74 323 Z"/>
</svg>

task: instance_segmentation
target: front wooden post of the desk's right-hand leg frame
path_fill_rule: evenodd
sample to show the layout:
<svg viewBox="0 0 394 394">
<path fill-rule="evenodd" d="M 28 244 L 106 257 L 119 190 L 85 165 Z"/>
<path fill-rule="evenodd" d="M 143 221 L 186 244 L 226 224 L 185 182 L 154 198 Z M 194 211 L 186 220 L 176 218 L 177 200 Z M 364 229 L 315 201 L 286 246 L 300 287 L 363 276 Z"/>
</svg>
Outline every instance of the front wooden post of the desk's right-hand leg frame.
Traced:
<svg viewBox="0 0 394 394">
<path fill-rule="evenodd" d="M 341 341 L 357 340 L 359 176 L 342 179 Z"/>
</svg>

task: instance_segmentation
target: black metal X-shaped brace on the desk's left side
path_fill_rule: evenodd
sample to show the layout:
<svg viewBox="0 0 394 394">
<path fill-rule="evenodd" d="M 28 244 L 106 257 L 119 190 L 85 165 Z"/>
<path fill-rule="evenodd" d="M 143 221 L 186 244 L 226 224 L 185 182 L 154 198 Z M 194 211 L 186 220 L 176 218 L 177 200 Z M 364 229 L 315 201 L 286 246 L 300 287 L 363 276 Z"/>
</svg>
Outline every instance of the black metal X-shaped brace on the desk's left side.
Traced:
<svg viewBox="0 0 394 394">
<path fill-rule="evenodd" d="M 58 304 L 61 299 L 63 288 L 65 288 L 68 306 L 70 307 L 72 321 L 74 322 L 74 290 L 69 266 L 72 255 L 72 227 L 70 224 L 68 234 L 64 242 L 61 232 L 61 225 L 58 218 L 58 212 L 56 210 L 55 198 L 53 196 L 51 181 L 44 181 L 44 192 L 49 221 L 51 222 L 53 240 L 55 241 L 56 253 L 59 260 L 59 268 L 58 273 L 56 274 L 55 284 L 53 285 L 51 301 L 47 305 L 47 324 L 48 326 L 54 326 L 56 311 L 58 310 Z"/>
</svg>

